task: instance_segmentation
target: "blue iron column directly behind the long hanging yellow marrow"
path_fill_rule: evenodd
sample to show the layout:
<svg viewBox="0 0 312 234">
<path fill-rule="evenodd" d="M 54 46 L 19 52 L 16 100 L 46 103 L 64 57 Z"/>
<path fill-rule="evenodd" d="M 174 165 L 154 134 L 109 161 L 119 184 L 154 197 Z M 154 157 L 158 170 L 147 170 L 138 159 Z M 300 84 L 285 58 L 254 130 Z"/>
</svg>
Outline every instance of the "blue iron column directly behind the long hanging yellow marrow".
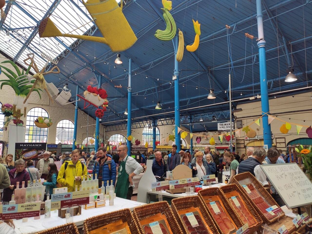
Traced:
<svg viewBox="0 0 312 234">
<path fill-rule="evenodd" d="M 179 39 L 175 37 L 174 43 L 174 72 L 173 75 L 177 77 L 174 80 L 174 123 L 175 129 L 175 144 L 178 146 L 177 152 L 181 150 L 181 134 L 178 133 L 178 127 L 180 127 L 180 97 L 179 97 L 179 63 L 177 61 Z"/>
</svg>

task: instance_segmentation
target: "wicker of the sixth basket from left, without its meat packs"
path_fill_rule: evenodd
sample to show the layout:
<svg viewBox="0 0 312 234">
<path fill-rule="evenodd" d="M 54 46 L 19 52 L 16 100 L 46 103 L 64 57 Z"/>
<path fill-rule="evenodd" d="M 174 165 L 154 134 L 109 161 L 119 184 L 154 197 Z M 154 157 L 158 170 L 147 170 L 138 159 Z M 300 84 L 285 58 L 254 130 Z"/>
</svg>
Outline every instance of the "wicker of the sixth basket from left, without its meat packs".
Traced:
<svg viewBox="0 0 312 234">
<path fill-rule="evenodd" d="M 238 188 L 238 186 L 236 184 L 229 184 L 226 186 L 222 186 L 220 188 L 222 190 L 222 192 L 224 194 L 226 193 L 230 193 L 232 191 L 236 191 L 242 198 L 242 200 L 245 202 L 247 209 L 249 210 L 249 212 L 253 215 L 253 217 L 255 217 L 257 224 L 254 227 L 249 228 L 251 233 L 254 233 L 256 231 L 259 230 L 259 228 L 261 227 L 262 219 L 261 217 L 258 215 L 258 213 L 256 212 L 256 209 L 253 207 L 253 205 L 249 202 L 249 200 L 246 198 L 246 195 L 244 193 L 241 192 L 241 190 Z M 232 206 L 231 202 L 230 205 Z M 235 209 L 235 208 L 234 208 Z"/>
</svg>

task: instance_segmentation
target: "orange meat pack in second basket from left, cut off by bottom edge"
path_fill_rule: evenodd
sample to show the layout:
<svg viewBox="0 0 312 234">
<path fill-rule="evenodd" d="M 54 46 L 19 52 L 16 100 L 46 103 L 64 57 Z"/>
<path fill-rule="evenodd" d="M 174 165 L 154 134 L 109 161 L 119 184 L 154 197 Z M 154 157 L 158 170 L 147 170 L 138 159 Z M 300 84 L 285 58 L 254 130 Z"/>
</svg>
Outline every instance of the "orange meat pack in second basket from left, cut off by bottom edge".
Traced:
<svg viewBox="0 0 312 234">
<path fill-rule="evenodd" d="M 90 234 L 131 234 L 128 222 L 118 220 L 89 232 Z"/>
</svg>

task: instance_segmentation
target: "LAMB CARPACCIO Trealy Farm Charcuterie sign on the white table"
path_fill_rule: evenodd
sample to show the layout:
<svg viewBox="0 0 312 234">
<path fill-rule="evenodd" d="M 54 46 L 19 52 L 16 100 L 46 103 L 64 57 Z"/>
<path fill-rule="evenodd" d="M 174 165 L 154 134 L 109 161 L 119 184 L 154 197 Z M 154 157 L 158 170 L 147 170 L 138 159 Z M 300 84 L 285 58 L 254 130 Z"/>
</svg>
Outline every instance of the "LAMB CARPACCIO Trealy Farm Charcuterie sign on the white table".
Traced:
<svg viewBox="0 0 312 234">
<path fill-rule="evenodd" d="M 52 194 L 51 211 L 65 207 L 89 204 L 89 198 L 89 190 Z"/>
</svg>

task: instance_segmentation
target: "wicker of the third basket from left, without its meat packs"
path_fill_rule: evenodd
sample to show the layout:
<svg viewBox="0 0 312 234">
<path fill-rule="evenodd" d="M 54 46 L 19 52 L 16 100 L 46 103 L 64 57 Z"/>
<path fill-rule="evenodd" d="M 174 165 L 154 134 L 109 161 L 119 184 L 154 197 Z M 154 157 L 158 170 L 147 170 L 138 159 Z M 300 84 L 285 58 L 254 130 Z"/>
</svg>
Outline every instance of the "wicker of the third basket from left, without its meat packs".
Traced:
<svg viewBox="0 0 312 234">
<path fill-rule="evenodd" d="M 138 223 L 138 227 L 140 229 L 141 234 L 144 234 L 142 225 L 140 223 L 141 220 L 161 213 L 164 214 L 167 218 L 167 221 L 170 225 L 170 229 L 173 232 L 173 234 L 183 234 L 181 227 L 179 226 L 179 223 L 177 219 L 175 218 L 172 209 L 170 208 L 168 202 L 154 202 L 151 204 L 146 204 L 143 206 L 135 207 L 133 210 L 133 216 Z"/>
</svg>

